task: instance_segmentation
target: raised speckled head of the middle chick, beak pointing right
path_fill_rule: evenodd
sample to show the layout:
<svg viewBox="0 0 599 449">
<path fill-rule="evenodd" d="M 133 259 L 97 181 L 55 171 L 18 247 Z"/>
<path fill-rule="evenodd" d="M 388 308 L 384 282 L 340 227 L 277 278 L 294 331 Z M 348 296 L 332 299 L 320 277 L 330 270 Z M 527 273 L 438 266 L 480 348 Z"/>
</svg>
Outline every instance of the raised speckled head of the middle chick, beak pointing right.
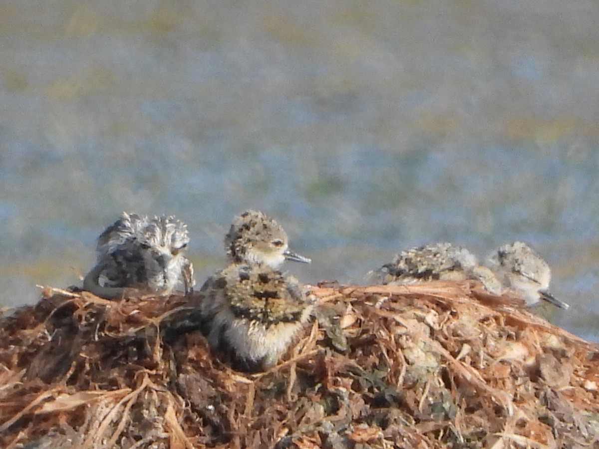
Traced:
<svg viewBox="0 0 599 449">
<path fill-rule="evenodd" d="M 230 263 L 257 263 L 277 269 L 285 260 L 311 262 L 289 250 L 289 239 L 279 223 L 253 210 L 235 217 L 225 236 L 225 250 Z"/>
</svg>

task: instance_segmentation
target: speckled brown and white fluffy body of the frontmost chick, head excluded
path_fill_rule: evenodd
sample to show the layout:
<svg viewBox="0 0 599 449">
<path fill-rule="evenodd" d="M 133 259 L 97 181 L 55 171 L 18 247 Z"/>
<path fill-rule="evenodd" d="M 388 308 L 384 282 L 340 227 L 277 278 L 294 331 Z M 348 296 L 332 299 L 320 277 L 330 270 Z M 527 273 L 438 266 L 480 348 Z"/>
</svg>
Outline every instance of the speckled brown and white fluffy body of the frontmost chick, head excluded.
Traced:
<svg viewBox="0 0 599 449">
<path fill-rule="evenodd" d="M 201 292 L 208 343 L 231 351 L 247 371 L 276 365 L 314 307 L 297 279 L 266 265 L 229 265 Z"/>
</svg>

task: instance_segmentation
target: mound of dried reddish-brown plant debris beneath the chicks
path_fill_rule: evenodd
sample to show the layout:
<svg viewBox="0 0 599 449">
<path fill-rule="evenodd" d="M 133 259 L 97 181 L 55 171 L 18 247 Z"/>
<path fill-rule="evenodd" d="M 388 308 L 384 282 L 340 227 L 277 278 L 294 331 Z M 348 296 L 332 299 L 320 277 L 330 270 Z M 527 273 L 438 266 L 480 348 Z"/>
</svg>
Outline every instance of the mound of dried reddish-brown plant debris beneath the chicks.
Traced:
<svg viewBox="0 0 599 449">
<path fill-rule="evenodd" d="M 231 369 L 193 298 L 46 288 L 0 318 L 0 447 L 597 447 L 599 351 L 480 284 L 318 286 L 267 372 Z"/>
</svg>

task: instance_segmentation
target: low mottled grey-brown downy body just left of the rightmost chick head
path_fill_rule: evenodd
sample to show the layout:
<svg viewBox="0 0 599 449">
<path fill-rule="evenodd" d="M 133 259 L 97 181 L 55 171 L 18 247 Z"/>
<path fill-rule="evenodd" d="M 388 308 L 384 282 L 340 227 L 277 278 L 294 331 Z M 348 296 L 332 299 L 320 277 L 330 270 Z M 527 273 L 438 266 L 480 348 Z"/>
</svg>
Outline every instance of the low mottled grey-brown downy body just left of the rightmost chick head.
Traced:
<svg viewBox="0 0 599 449">
<path fill-rule="evenodd" d="M 383 265 L 377 274 L 383 284 L 474 279 L 482 282 L 494 295 L 501 293 L 501 284 L 490 269 L 479 265 L 476 256 L 466 248 L 448 242 L 401 251 L 393 262 Z"/>
</svg>

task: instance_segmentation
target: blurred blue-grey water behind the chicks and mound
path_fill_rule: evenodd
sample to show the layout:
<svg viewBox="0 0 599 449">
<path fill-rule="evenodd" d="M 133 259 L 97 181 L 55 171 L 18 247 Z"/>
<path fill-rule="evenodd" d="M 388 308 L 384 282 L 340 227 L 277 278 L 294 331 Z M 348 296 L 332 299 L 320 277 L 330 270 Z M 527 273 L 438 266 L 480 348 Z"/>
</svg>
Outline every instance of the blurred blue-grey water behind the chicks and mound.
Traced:
<svg viewBox="0 0 599 449">
<path fill-rule="evenodd" d="M 599 4 L 0 2 L 0 304 L 93 264 L 120 212 L 276 217 L 301 280 L 524 239 L 599 341 Z"/>
</svg>

